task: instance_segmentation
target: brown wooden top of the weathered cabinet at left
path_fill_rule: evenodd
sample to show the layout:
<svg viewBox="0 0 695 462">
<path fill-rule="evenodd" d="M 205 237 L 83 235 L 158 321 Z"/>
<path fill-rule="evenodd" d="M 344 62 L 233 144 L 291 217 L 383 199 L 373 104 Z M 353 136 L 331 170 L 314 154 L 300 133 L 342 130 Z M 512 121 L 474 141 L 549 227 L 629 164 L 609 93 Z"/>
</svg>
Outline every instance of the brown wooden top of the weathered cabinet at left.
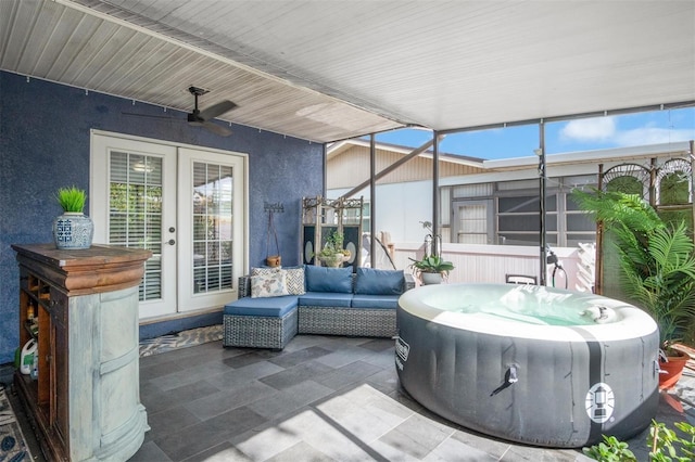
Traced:
<svg viewBox="0 0 695 462">
<path fill-rule="evenodd" d="M 67 295 L 111 292 L 140 284 L 152 252 L 115 245 L 59 251 L 54 244 L 14 244 L 17 261 Z"/>
</svg>

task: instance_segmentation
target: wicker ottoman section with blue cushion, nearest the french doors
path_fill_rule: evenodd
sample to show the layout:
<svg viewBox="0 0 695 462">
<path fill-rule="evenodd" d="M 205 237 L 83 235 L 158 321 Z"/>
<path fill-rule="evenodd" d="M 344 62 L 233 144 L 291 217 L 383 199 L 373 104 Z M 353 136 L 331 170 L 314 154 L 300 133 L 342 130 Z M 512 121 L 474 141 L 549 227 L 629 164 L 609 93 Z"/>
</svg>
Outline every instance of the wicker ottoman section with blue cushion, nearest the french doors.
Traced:
<svg viewBox="0 0 695 462">
<path fill-rule="evenodd" d="M 296 335 L 296 296 L 239 298 L 223 322 L 223 346 L 282 349 Z"/>
</svg>

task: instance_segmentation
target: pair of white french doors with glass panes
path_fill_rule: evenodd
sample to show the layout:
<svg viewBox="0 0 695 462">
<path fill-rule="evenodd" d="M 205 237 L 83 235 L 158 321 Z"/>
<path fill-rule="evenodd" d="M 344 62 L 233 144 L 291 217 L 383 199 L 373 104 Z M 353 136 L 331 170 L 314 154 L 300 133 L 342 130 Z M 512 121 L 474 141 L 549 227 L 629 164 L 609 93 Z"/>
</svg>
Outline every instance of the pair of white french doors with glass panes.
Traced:
<svg viewBox="0 0 695 462">
<path fill-rule="evenodd" d="M 140 319 L 218 308 L 245 268 L 245 155 L 92 133 L 94 242 L 147 248 Z"/>
</svg>

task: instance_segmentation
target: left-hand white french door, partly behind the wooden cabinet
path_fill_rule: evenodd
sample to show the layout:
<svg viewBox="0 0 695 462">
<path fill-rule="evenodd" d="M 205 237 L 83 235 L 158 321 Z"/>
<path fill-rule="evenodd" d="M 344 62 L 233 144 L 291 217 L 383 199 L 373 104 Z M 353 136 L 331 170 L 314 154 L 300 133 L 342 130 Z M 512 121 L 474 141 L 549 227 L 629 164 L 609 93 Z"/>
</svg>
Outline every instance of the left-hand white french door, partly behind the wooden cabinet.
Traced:
<svg viewBox="0 0 695 462">
<path fill-rule="evenodd" d="M 146 248 L 140 319 L 177 312 L 176 147 L 92 136 L 94 242 Z"/>
</svg>

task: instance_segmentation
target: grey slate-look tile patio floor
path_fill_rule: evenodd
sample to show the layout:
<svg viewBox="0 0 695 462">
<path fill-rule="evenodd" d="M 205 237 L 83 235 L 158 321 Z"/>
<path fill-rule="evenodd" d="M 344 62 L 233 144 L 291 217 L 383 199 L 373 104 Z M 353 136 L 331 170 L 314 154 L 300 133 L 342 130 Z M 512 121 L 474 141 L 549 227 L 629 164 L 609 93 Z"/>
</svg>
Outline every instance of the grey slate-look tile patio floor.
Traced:
<svg viewBox="0 0 695 462">
<path fill-rule="evenodd" d="M 152 429 L 131 461 L 589 460 L 438 418 L 401 389 L 393 355 L 391 339 L 299 335 L 283 351 L 212 342 L 141 358 Z M 657 419 L 695 420 L 695 378 L 681 382 L 685 392 L 662 397 Z M 645 435 L 629 441 L 641 461 Z"/>
</svg>

